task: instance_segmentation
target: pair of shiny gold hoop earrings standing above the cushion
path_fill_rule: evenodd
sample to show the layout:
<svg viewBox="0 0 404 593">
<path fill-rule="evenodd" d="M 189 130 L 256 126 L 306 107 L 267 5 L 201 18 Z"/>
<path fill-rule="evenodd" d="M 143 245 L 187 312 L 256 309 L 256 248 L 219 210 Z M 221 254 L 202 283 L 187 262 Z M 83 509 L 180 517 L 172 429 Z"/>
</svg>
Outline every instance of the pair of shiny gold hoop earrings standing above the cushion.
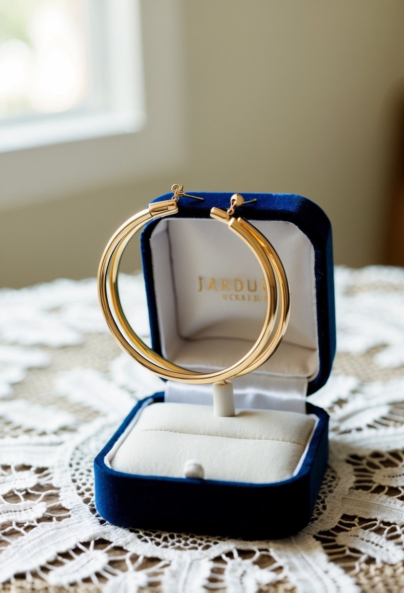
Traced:
<svg viewBox="0 0 404 593">
<path fill-rule="evenodd" d="M 118 293 L 118 271 L 123 251 L 130 239 L 148 222 L 175 215 L 180 197 L 203 200 L 201 197 L 185 194 L 183 186 L 179 184 L 174 184 L 171 189 L 171 200 L 150 203 L 148 208 L 138 212 L 118 228 L 105 247 L 98 269 L 98 298 L 102 314 L 114 339 L 123 350 L 159 377 L 182 383 L 214 383 L 245 375 L 264 364 L 280 345 L 289 320 L 290 294 L 283 264 L 271 243 L 245 219 L 235 218 L 235 209 L 245 203 L 240 194 L 231 197 L 227 211 L 212 208 L 210 216 L 226 224 L 230 231 L 248 245 L 264 275 L 268 295 L 267 311 L 261 333 L 251 349 L 238 362 L 220 371 L 191 371 L 166 361 L 150 349 L 134 332 L 123 312 Z"/>
</svg>

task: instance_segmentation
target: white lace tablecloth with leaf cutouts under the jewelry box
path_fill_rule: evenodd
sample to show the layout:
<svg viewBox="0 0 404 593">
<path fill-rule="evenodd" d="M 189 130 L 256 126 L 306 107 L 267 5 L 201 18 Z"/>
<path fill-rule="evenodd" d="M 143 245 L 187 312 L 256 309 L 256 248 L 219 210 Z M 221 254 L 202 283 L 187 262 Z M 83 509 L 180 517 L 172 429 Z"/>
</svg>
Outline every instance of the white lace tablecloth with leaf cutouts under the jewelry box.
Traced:
<svg viewBox="0 0 404 593">
<path fill-rule="evenodd" d="M 142 280 L 123 290 L 146 335 Z M 103 521 L 94 455 L 161 381 L 120 353 L 94 279 L 0 291 L 2 590 L 404 591 L 404 270 L 337 269 L 336 304 L 334 371 L 309 398 L 331 414 L 315 514 L 251 542 Z"/>
</svg>

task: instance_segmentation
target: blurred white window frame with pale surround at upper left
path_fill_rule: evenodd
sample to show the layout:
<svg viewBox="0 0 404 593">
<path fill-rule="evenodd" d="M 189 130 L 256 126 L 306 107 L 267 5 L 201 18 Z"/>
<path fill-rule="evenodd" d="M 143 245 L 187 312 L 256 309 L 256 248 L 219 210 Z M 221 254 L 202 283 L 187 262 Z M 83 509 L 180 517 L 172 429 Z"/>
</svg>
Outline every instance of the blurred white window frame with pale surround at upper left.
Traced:
<svg viewBox="0 0 404 593">
<path fill-rule="evenodd" d="M 108 4 L 111 8 L 108 0 L 102 2 L 104 8 Z M 132 44 L 124 68 L 112 69 L 118 76 L 116 88 L 123 88 L 119 80 L 127 79 L 128 70 L 133 73 L 133 87 L 139 88 L 143 81 L 137 105 L 131 104 L 131 88 L 129 93 L 113 98 L 114 109 L 76 114 L 76 123 L 72 117 L 60 117 L 59 130 L 54 126 L 53 135 L 49 131 L 42 141 L 35 126 L 28 142 L 25 130 L 25 144 L 18 144 L 15 138 L 13 145 L 11 135 L 3 139 L 0 209 L 163 174 L 181 162 L 185 154 L 185 109 L 179 1 L 166 0 L 157 8 L 147 0 L 114 0 L 108 20 L 110 31 L 120 31 L 113 64 L 121 60 L 122 47 Z"/>
</svg>

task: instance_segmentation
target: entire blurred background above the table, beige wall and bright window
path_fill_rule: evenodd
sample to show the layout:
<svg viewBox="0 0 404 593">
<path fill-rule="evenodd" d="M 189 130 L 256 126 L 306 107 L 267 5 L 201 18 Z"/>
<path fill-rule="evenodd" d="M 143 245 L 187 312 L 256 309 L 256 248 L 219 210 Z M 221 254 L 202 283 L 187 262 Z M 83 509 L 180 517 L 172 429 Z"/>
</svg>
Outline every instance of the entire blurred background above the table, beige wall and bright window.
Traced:
<svg viewBox="0 0 404 593">
<path fill-rule="evenodd" d="M 402 0 L 0 0 L 1 285 L 95 276 L 173 183 L 299 193 L 336 263 L 404 264 L 403 22 Z"/>
</svg>

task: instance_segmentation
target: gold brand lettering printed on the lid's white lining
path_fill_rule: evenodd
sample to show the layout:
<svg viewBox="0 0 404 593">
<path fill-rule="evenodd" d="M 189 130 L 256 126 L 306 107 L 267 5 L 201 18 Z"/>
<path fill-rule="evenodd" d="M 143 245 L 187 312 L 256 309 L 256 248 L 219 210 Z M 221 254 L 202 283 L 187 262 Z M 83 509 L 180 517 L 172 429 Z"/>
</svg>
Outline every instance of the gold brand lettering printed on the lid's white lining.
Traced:
<svg viewBox="0 0 404 593">
<path fill-rule="evenodd" d="M 203 278 L 198 276 L 198 292 L 219 292 L 225 301 L 267 300 L 267 289 L 264 280 L 241 280 L 240 278 Z"/>
</svg>

